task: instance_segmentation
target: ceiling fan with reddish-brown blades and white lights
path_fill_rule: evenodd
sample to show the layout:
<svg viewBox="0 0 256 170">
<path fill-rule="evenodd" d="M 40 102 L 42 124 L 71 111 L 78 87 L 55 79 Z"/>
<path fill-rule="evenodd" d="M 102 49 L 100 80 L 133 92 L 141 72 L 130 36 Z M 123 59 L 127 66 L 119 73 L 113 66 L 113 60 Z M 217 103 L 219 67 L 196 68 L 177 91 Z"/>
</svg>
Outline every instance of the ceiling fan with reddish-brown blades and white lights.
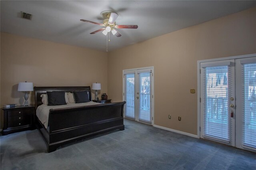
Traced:
<svg viewBox="0 0 256 170">
<path fill-rule="evenodd" d="M 81 19 L 80 21 L 90 22 L 92 24 L 97 24 L 97 25 L 106 27 L 106 28 L 101 28 L 99 30 L 91 32 L 90 34 L 95 34 L 97 32 L 102 31 L 102 33 L 104 35 L 107 35 L 108 32 L 111 31 L 113 35 L 120 37 L 122 35 L 116 30 L 116 28 L 130 28 L 130 29 L 138 28 L 137 25 L 116 25 L 115 21 L 116 21 L 116 18 L 118 17 L 118 14 L 116 14 L 116 12 L 114 12 L 114 11 L 110 11 L 110 10 L 103 11 L 100 13 L 100 16 L 102 16 L 102 18 L 103 18 L 103 24 L 100 24 L 98 22 L 89 21 L 89 20 L 84 20 L 84 19 Z"/>
</svg>

